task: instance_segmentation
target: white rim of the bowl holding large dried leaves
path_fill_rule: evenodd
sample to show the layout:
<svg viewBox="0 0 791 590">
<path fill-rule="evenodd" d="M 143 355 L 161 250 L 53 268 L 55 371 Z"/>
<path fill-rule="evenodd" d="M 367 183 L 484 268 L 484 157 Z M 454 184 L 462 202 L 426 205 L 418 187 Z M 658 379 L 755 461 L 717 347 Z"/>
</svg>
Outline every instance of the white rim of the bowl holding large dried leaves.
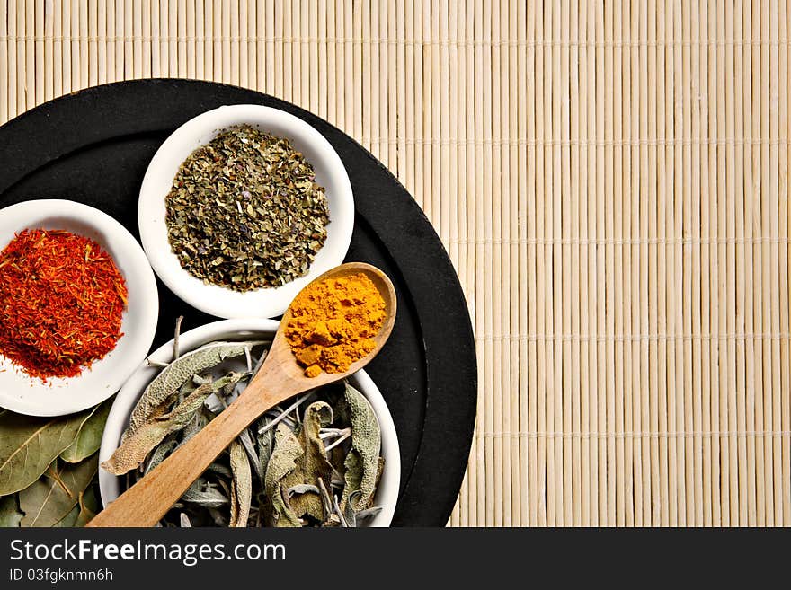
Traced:
<svg viewBox="0 0 791 590">
<path fill-rule="evenodd" d="M 278 322 L 261 319 L 235 319 L 214 321 L 185 332 L 179 338 L 179 347 L 182 352 L 189 352 L 204 344 L 218 340 L 239 340 L 248 338 L 271 338 L 278 330 Z M 149 356 L 150 359 L 161 363 L 173 359 L 173 341 L 157 348 Z M 120 444 L 120 437 L 129 425 L 129 416 L 138 402 L 140 395 L 148 383 L 156 377 L 161 369 L 143 363 L 137 373 L 133 374 L 121 388 L 112 404 L 107 424 L 102 436 L 102 447 L 99 450 L 99 461 L 104 462 L 111 457 Z M 369 526 L 389 526 L 393 520 L 398 500 L 398 489 L 401 482 L 401 452 L 398 447 L 398 436 L 393 417 L 387 409 L 387 402 L 379 392 L 376 384 L 364 371 L 358 371 L 350 378 L 354 385 L 370 402 L 377 415 L 379 428 L 382 433 L 382 456 L 385 458 L 385 468 L 379 480 L 374 503 L 382 506 L 382 511 L 370 519 Z M 118 498 L 122 489 L 123 478 L 112 475 L 109 471 L 99 469 L 99 488 L 102 492 L 102 503 L 107 506 L 112 500 Z"/>
</svg>

